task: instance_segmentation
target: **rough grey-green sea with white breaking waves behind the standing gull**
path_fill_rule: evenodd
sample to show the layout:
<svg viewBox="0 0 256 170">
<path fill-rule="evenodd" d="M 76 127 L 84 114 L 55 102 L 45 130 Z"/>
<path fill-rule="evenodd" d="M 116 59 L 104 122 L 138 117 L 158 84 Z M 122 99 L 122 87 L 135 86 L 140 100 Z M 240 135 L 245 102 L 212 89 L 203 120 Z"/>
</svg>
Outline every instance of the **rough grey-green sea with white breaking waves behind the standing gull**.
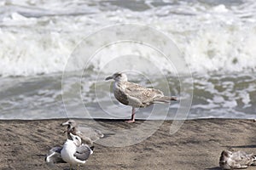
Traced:
<svg viewBox="0 0 256 170">
<path fill-rule="evenodd" d="M 100 56 L 84 71 L 78 70 L 79 61 L 67 69 L 84 38 L 124 23 L 150 26 L 170 37 L 183 54 L 192 79 L 178 75 L 175 69 L 166 71 L 166 62 L 154 50 L 138 50 L 132 44 L 132 56 L 125 51 L 126 45 L 118 44 L 96 54 L 106 58 Z M 127 118 L 131 107 L 119 104 L 112 82 L 104 81 L 125 66 L 131 68 L 131 72 L 125 69 L 132 82 L 160 88 L 181 100 L 186 95 L 193 97 L 186 118 L 255 118 L 255 23 L 253 0 L 1 1 L 0 118 Z M 141 36 L 140 32 L 135 36 Z M 87 47 L 109 39 L 97 38 L 86 42 Z M 113 55 L 124 57 L 106 65 L 104 59 Z M 89 56 L 84 53 L 84 57 Z M 152 61 L 166 79 L 154 74 Z M 172 63 L 172 68 L 177 65 Z M 64 81 L 63 71 L 68 73 Z M 181 93 L 181 79 L 191 85 L 193 93 Z M 153 116 L 154 106 L 139 109 L 137 118 L 174 119 L 179 104 L 157 105 L 158 114 Z"/>
</svg>

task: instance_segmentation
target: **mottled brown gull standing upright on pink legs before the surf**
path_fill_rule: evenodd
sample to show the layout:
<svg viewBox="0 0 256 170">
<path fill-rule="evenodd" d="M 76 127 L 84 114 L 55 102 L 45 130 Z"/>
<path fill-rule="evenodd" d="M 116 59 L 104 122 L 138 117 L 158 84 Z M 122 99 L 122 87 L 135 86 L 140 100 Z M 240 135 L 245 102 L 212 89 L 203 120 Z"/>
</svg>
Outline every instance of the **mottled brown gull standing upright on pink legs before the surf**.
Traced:
<svg viewBox="0 0 256 170">
<path fill-rule="evenodd" d="M 124 105 L 131 105 L 131 120 L 127 122 L 135 122 L 135 108 L 147 107 L 156 103 L 170 103 L 170 100 L 177 100 L 176 97 L 168 97 L 159 89 L 144 88 L 133 82 L 127 81 L 124 73 L 114 73 L 113 76 L 107 77 L 105 80 L 113 79 L 114 97 Z"/>
</svg>

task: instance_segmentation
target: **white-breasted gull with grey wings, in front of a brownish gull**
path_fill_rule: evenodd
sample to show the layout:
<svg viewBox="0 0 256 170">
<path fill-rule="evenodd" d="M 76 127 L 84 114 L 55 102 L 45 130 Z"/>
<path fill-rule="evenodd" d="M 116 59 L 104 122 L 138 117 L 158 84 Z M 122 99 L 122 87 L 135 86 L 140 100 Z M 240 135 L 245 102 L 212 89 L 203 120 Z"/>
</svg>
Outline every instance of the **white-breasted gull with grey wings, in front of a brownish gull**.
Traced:
<svg viewBox="0 0 256 170">
<path fill-rule="evenodd" d="M 81 139 L 77 135 L 70 133 L 72 139 L 67 139 L 63 147 L 55 147 L 49 150 L 49 154 L 45 157 L 47 163 L 67 162 L 72 169 L 73 165 L 84 164 L 85 161 L 93 153 L 93 147 L 82 144 Z"/>
</svg>

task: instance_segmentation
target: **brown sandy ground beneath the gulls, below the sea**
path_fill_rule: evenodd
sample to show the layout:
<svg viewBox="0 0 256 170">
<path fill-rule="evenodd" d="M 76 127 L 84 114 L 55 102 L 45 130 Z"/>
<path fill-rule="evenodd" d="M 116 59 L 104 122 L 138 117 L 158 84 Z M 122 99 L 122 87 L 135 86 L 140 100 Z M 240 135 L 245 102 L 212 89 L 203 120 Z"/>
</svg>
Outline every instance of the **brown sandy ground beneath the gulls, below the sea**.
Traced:
<svg viewBox="0 0 256 170">
<path fill-rule="evenodd" d="M 68 164 L 49 167 L 44 162 L 51 147 L 65 142 L 64 127 L 60 124 L 66 121 L 0 121 L 0 169 L 68 169 Z M 130 128 L 143 121 L 134 124 L 111 120 L 97 122 L 108 128 Z M 222 150 L 233 148 L 256 153 L 256 122 L 253 120 L 186 121 L 174 135 L 169 134 L 171 124 L 172 121 L 164 122 L 154 135 L 132 146 L 116 148 L 95 144 L 94 154 L 79 169 L 218 170 Z"/>
</svg>

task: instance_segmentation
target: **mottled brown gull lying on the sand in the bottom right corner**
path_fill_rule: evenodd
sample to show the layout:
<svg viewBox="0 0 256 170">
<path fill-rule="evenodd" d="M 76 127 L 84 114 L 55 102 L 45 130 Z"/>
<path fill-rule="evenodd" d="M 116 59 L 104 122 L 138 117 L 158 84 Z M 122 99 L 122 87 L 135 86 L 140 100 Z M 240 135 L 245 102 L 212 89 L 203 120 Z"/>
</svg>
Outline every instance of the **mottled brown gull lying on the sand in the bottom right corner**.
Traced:
<svg viewBox="0 0 256 170">
<path fill-rule="evenodd" d="M 250 165 L 256 165 L 256 156 L 244 151 L 224 150 L 219 158 L 219 167 L 222 169 L 244 169 Z"/>
</svg>

